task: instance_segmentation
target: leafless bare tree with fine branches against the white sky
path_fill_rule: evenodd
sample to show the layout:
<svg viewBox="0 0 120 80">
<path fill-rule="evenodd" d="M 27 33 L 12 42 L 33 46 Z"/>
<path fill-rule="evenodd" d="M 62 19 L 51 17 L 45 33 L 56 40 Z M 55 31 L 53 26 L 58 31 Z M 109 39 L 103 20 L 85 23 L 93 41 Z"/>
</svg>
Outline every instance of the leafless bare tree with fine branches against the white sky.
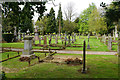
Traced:
<svg viewBox="0 0 120 80">
<path fill-rule="evenodd" d="M 74 19 L 76 15 L 76 10 L 73 2 L 69 2 L 67 4 L 66 8 L 64 9 L 64 14 L 65 14 L 66 20 L 72 21 Z"/>
</svg>

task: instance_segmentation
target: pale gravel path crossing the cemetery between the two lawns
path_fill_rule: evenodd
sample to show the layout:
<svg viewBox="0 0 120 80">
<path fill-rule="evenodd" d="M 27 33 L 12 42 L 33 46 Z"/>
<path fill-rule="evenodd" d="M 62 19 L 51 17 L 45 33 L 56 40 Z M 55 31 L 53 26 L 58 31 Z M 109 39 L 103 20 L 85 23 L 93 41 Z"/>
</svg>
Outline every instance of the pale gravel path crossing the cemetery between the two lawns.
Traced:
<svg viewBox="0 0 120 80">
<path fill-rule="evenodd" d="M 9 49 L 9 48 L 5 48 Z M 22 51 L 23 49 L 15 49 L 12 48 L 14 51 Z M 39 49 L 33 49 L 32 51 L 43 51 Z M 44 50 L 48 51 L 48 50 Z M 70 50 L 50 50 L 50 51 L 56 51 L 57 53 L 65 53 L 65 54 L 82 54 L 83 51 L 70 51 Z M 97 54 L 97 55 L 115 55 L 117 52 L 102 52 L 102 51 L 86 51 L 86 54 Z"/>
</svg>

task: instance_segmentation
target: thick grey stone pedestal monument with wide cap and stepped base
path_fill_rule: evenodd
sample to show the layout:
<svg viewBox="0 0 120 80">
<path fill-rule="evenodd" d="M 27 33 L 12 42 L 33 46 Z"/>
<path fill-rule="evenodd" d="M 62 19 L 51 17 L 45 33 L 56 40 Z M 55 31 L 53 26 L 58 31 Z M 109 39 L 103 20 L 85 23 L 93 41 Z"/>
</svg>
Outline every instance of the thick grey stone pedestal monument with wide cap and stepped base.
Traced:
<svg viewBox="0 0 120 80">
<path fill-rule="evenodd" d="M 32 38 L 31 36 L 27 36 L 24 38 L 24 50 L 22 51 L 21 57 L 31 57 L 33 56 L 32 50 Z"/>
</svg>

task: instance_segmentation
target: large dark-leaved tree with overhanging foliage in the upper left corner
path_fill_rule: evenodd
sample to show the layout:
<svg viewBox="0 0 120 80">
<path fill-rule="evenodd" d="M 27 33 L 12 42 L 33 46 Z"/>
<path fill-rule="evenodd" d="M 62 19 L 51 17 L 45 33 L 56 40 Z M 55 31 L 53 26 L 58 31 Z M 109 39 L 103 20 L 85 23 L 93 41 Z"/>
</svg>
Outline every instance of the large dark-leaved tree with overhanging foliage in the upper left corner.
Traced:
<svg viewBox="0 0 120 80">
<path fill-rule="evenodd" d="M 30 32 L 33 32 L 32 29 L 32 18 L 34 12 L 39 14 L 38 20 L 43 16 L 43 12 L 46 11 L 45 9 L 46 2 L 5 2 L 3 3 L 3 16 L 4 19 L 8 19 L 7 17 L 11 13 L 13 16 L 10 16 L 10 26 L 14 27 L 21 27 L 22 32 L 26 32 L 27 29 Z M 19 5 L 25 5 L 24 9 L 21 10 Z M 28 21 L 28 24 L 26 23 Z M 8 21 L 8 20 L 6 20 Z M 4 26 L 5 27 L 5 26 Z M 6 26 L 7 27 L 7 26 Z M 18 31 L 17 28 L 17 31 Z"/>
</svg>

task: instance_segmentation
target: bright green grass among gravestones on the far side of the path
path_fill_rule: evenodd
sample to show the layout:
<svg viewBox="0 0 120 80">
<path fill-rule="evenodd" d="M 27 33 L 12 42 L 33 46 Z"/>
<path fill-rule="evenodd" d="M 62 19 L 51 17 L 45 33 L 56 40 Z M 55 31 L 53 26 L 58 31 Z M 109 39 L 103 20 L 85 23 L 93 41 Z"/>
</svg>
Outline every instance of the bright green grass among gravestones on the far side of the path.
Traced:
<svg viewBox="0 0 120 80">
<path fill-rule="evenodd" d="M 84 39 L 86 39 L 86 47 L 88 45 L 88 39 L 87 36 L 81 36 L 80 39 L 77 36 L 77 41 L 74 44 L 82 44 L 81 46 L 83 46 L 83 41 Z M 36 44 L 39 44 L 39 41 L 35 41 Z M 41 44 L 43 44 L 43 40 L 41 41 Z M 47 39 L 47 43 L 48 39 Z M 55 43 L 55 39 L 52 39 L 52 44 Z M 89 40 L 89 44 L 90 44 L 90 48 L 88 51 L 109 51 L 107 45 L 105 45 L 104 43 L 100 42 L 100 40 L 97 40 L 94 36 L 90 37 Z M 113 44 L 117 44 L 117 43 L 113 43 Z M 58 45 L 62 45 L 62 40 L 58 40 Z M 73 44 L 71 43 L 71 45 L 73 46 Z M 24 43 L 22 42 L 15 42 L 15 43 L 2 43 L 2 47 L 14 47 L 14 48 L 24 48 Z M 117 51 L 117 45 L 113 45 L 112 46 L 112 51 Z M 38 46 L 33 46 L 33 49 L 40 49 L 42 47 L 38 47 Z M 54 48 L 59 48 L 59 47 L 51 47 L 52 49 Z M 66 50 L 83 50 L 82 47 L 66 47 Z"/>
</svg>

